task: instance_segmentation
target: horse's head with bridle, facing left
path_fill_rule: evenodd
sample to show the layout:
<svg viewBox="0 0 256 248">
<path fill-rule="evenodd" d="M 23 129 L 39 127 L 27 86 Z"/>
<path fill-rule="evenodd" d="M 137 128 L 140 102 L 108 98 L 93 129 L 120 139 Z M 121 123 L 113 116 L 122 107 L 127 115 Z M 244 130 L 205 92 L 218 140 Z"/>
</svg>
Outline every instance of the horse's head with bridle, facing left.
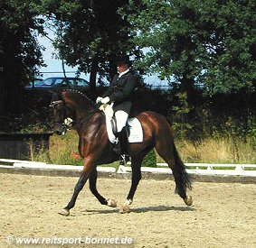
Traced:
<svg viewBox="0 0 256 248">
<path fill-rule="evenodd" d="M 53 128 L 58 135 L 64 135 L 74 123 L 74 109 L 61 95 L 54 94 L 50 106 L 53 109 Z"/>
</svg>

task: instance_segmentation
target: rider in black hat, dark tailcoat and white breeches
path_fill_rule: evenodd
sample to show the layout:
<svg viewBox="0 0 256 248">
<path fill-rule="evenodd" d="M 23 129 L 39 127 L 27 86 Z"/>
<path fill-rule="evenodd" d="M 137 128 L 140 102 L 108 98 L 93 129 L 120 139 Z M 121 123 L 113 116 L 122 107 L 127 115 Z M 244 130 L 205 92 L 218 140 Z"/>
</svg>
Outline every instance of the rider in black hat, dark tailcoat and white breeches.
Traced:
<svg viewBox="0 0 256 248">
<path fill-rule="evenodd" d="M 125 126 L 132 106 L 132 95 L 137 87 L 137 78 L 129 69 L 130 63 L 128 55 L 119 55 L 116 58 L 115 64 L 119 73 L 113 77 L 103 96 L 96 99 L 96 102 L 101 104 L 114 103 L 113 110 L 117 120 L 121 165 L 128 161 L 128 134 Z"/>
</svg>

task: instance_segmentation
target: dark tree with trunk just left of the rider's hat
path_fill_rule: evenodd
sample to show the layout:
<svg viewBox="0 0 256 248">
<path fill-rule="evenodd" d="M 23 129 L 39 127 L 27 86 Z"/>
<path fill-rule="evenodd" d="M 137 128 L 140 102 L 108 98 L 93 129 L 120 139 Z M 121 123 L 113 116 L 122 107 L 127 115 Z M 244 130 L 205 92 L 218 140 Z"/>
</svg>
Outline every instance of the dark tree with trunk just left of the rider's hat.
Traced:
<svg viewBox="0 0 256 248">
<path fill-rule="evenodd" d="M 115 53 L 134 53 L 129 23 L 119 14 L 127 4 L 128 0 L 43 1 L 44 14 L 57 33 L 54 44 L 60 57 L 90 73 L 92 91 L 97 73 L 108 78 L 113 74 Z"/>
</svg>

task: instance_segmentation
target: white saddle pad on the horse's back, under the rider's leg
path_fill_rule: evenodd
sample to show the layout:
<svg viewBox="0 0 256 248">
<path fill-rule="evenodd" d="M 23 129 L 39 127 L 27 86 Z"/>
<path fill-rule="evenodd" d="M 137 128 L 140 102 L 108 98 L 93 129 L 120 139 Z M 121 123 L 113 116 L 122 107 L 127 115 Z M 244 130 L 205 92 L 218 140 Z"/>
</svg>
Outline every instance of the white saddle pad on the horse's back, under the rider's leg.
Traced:
<svg viewBox="0 0 256 248">
<path fill-rule="evenodd" d="M 112 106 L 102 105 L 100 106 L 100 110 L 102 110 L 106 115 L 106 126 L 107 126 L 107 133 L 109 135 L 109 142 L 112 142 L 112 143 L 118 142 L 118 139 L 114 135 L 112 126 L 111 126 L 111 119 L 113 118 L 113 114 L 114 114 Z M 128 136 L 128 142 L 143 142 L 143 130 L 138 119 L 129 118 L 128 126 L 129 126 L 129 133 L 130 133 Z"/>
</svg>

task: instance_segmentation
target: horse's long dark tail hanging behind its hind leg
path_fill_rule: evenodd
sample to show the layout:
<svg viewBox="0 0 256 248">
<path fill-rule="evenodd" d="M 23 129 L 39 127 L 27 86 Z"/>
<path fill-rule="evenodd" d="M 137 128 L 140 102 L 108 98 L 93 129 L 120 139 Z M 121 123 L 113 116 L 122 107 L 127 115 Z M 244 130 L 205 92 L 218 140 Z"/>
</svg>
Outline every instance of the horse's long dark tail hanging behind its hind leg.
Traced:
<svg viewBox="0 0 256 248">
<path fill-rule="evenodd" d="M 190 176 L 185 171 L 185 164 L 180 159 L 180 156 L 175 147 L 175 143 L 173 147 L 175 158 L 175 169 L 173 170 L 176 183 L 175 193 L 179 194 L 181 197 L 184 198 L 186 188 L 189 188 L 190 190 L 192 189 L 192 182 Z"/>
</svg>

